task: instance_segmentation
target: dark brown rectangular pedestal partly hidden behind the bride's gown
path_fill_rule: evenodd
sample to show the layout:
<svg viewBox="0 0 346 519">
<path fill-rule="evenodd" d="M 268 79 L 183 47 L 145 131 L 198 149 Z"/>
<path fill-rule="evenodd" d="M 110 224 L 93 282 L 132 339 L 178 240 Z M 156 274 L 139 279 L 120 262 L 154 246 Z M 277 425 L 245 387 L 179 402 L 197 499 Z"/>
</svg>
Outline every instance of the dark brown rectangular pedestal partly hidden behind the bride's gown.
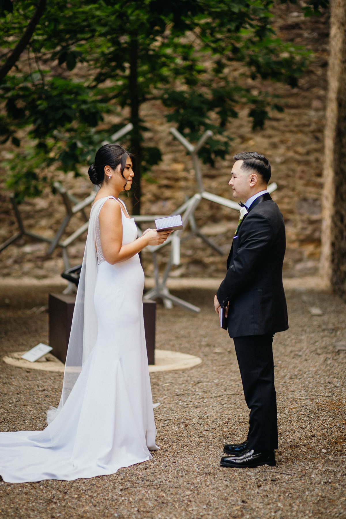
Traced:
<svg viewBox="0 0 346 519">
<path fill-rule="evenodd" d="M 49 346 L 54 357 L 65 363 L 70 339 L 75 294 L 49 294 Z M 156 301 L 143 301 L 148 364 L 155 364 Z"/>
</svg>

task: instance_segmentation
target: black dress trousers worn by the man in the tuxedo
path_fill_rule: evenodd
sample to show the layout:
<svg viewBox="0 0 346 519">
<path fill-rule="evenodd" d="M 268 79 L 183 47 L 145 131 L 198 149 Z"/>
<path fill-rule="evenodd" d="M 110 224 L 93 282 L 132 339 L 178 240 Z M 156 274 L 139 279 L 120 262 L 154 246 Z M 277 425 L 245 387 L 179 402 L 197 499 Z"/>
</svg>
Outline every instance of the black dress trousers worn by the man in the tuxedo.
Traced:
<svg viewBox="0 0 346 519">
<path fill-rule="evenodd" d="M 278 415 L 274 387 L 272 335 L 234 337 L 247 407 L 251 409 L 248 447 L 278 448 Z"/>
</svg>

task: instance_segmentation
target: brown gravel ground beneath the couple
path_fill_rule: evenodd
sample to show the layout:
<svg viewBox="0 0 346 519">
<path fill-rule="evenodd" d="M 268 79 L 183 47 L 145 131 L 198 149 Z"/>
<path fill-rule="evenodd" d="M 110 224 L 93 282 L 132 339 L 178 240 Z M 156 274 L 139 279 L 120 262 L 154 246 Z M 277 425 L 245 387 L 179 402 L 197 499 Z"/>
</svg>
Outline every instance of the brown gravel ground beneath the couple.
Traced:
<svg viewBox="0 0 346 519">
<path fill-rule="evenodd" d="M 161 450 L 117 474 L 74 482 L 0 484 L 0 517 L 346 517 L 346 307 L 335 295 L 288 292 L 290 329 L 274 337 L 276 467 L 219 467 L 223 444 L 246 438 L 248 409 L 232 340 L 218 329 L 210 292 L 178 294 L 199 315 L 158 308 L 157 347 L 200 356 L 187 371 L 150 375 Z M 311 316 L 309 307 L 323 310 Z M 2 312 L 1 354 L 47 342 L 48 316 Z M 45 427 L 62 375 L 0 363 L 1 426 Z"/>
</svg>

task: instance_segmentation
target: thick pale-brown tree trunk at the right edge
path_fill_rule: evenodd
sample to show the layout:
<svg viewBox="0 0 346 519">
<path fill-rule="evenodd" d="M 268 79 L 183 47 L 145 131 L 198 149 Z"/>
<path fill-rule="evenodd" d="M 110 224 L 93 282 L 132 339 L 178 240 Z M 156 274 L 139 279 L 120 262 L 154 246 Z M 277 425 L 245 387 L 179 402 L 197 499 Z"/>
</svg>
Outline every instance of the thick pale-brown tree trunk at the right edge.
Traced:
<svg viewBox="0 0 346 519">
<path fill-rule="evenodd" d="M 346 0 L 331 0 L 320 273 L 346 300 Z"/>
</svg>

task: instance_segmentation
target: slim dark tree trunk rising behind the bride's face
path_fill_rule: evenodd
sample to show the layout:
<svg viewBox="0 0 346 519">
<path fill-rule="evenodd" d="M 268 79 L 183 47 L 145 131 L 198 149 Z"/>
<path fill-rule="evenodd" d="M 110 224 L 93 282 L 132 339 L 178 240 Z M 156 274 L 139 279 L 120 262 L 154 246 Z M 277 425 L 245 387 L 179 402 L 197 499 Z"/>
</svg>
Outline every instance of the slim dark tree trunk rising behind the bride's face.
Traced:
<svg viewBox="0 0 346 519">
<path fill-rule="evenodd" d="M 132 193 L 132 214 L 141 214 L 141 162 L 142 162 L 142 135 L 140 131 L 140 99 L 138 89 L 138 39 L 137 35 L 133 35 L 131 38 L 131 50 L 130 50 L 130 82 L 129 82 L 129 93 L 130 93 L 130 110 L 131 110 L 131 122 L 133 124 L 133 130 L 131 132 L 131 153 L 135 155 L 134 164 L 134 182 L 136 184 L 136 191 Z M 138 201 L 134 198 L 134 193 Z"/>
</svg>

